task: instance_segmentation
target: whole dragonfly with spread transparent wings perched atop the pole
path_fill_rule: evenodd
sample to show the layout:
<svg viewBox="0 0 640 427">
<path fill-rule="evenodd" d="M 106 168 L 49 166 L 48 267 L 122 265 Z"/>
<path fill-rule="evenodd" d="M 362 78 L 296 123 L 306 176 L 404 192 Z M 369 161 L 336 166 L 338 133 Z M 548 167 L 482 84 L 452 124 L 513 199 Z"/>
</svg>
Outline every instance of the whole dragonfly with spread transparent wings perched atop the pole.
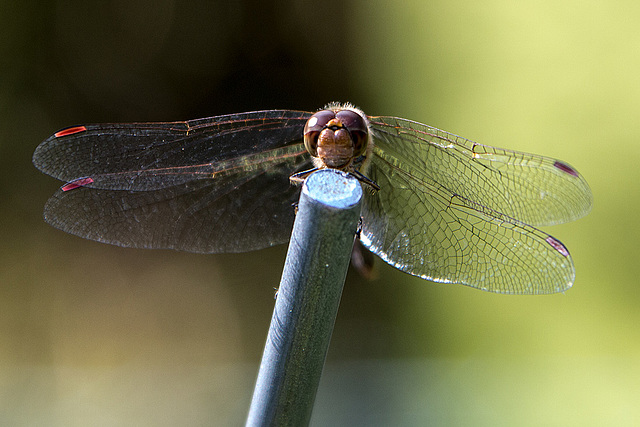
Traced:
<svg viewBox="0 0 640 427">
<path fill-rule="evenodd" d="M 300 185 L 335 168 L 366 187 L 361 243 L 401 271 L 506 294 L 569 289 L 573 260 L 536 227 L 591 209 L 566 162 L 350 104 L 62 129 L 33 163 L 66 182 L 44 218 L 124 247 L 246 252 L 286 243 Z"/>
</svg>

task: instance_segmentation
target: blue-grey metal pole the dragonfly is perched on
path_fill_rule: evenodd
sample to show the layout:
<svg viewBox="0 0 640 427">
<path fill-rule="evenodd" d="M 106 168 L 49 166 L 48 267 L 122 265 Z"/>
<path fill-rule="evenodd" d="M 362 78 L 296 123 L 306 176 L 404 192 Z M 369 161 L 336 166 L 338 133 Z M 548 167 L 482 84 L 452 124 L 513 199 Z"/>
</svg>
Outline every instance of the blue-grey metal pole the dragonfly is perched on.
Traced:
<svg viewBox="0 0 640 427">
<path fill-rule="evenodd" d="M 362 201 L 362 187 L 324 169 L 302 188 L 247 426 L 309 424 Z"/>
</svg>

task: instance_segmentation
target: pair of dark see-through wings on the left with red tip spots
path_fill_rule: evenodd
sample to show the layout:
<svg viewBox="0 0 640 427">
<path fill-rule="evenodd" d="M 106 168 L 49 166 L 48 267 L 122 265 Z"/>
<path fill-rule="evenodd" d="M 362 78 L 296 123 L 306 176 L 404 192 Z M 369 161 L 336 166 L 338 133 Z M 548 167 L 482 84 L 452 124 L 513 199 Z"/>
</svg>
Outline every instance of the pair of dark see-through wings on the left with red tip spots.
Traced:
<svg viewBox="0 0 640 427">
<path fill-rule="evenodd" d="M 189 122 L 86 125 L 34 154 L 69 181 L 45 219 L 66 232 L 127 247 L 243 252 L 288 241 L 311 166 L 301 142 L 310 114 L 259 111 Z"/>
</svg>

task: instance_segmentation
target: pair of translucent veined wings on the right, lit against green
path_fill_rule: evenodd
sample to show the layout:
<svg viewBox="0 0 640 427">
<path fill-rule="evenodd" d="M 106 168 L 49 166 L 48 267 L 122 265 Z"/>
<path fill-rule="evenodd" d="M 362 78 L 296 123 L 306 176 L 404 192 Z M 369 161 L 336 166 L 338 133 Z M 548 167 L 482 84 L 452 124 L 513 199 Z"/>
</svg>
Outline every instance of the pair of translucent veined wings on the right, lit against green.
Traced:
<svg viewBox="0 0 640 427">
<path fill-rule="evenodd" d="M 370 250 L 407 273 L 493 292 L 552 293 L 573 284 L 564 245 L 524 222 L 588 212 L 591 193 L 573 168 L 408 120 L 373 117 L 371 124 L 368 176 L 381 189 L 363 207 L 361 238 Z"/>
</svg>

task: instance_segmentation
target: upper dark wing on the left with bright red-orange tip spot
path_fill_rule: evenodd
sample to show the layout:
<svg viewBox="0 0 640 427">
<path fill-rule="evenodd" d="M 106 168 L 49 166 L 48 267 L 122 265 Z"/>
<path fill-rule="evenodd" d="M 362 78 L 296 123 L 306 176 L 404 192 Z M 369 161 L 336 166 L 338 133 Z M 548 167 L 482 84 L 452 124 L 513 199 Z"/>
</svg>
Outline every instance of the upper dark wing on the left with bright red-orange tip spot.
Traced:
<svg viewBox="0 0 640 427">
<path fill-rule="evenodd" d="M 67 182 L 94 175 L 215 165 L 299 143 L 310 116 L 302 111 L 269 110 L 186 122 L 74 126 L 43 141 L 33 163 Z M 109 188 L 135 189 L 121 182 L 125 184 L 111 182 Z M 138 180 L 137 188 L 143 185 Z"/>
</svg>

